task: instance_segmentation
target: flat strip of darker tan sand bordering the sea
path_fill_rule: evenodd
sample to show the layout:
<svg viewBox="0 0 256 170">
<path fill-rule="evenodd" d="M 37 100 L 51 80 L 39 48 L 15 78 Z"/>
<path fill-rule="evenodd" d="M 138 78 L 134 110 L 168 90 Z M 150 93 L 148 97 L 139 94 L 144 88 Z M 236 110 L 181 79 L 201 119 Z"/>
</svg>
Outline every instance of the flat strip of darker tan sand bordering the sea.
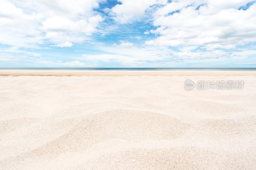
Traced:
<svg viewBox="0 0 256 170">
<path fill-rule="evenodd" d="M 0 70 L 0 76 L 256 76 L 256 71 Z"/>
</svg>

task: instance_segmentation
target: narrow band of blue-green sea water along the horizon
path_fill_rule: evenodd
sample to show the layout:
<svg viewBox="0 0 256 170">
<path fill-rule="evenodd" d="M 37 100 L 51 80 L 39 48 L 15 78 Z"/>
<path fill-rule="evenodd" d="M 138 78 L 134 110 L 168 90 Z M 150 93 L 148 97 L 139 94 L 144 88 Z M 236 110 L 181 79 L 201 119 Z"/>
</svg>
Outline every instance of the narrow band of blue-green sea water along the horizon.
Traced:
<svg viewBox="0 0 256 170">
<path fill-rule="evenodd" d="M 256 68 L 0 68 L 0 70 L 256 71 Z"/>
</svg>

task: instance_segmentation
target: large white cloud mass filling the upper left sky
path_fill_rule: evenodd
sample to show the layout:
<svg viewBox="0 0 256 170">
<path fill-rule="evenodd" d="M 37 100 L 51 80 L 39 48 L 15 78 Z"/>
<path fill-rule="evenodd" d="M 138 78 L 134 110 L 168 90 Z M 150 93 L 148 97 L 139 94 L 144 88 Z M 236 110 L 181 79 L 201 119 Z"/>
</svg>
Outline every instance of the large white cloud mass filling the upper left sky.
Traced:
<svg viewBox="0 0 256 170">
<path fill-rule="evenodd" d="M 93 12 L 99 2 L 0 0 L 0 43 L 37 48 L 49 42 L 83 42 L 103 20 Z"/>
</svg>

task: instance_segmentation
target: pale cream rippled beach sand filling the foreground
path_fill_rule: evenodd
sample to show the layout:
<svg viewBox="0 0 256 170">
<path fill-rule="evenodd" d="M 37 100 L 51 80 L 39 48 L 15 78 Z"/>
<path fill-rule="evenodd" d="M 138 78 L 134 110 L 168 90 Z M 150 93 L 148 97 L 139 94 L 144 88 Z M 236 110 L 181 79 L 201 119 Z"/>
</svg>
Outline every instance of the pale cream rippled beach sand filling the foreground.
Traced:
<svg viewBox="0 0 256 170">
<path fill-rule="evenodd" d="M 46 72 L 0 71 L 0 169 L 256 168 L 255 72 Z"/>
</svg>

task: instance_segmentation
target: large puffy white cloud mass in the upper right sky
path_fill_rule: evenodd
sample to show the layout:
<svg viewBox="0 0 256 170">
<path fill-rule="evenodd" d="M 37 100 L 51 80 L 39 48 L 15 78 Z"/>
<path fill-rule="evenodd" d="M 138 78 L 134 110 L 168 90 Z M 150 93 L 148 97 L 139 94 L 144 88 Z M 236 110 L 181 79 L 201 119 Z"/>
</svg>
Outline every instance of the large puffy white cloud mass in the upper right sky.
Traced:
<svg viewBox="0 0 256 170">
<path fill-rule="evenodd" d="M 213 50 L 234 49 L 237 45 L 256 42 L 256 3 L 247 10 L 238 10 L 248 2 L 250 0 L 172 1 L 155 12 L 154 25 L 158 28 L 150 32 L 160 36 L 145 44 L 178 48 L 201 46 Z"/>
</svg>

